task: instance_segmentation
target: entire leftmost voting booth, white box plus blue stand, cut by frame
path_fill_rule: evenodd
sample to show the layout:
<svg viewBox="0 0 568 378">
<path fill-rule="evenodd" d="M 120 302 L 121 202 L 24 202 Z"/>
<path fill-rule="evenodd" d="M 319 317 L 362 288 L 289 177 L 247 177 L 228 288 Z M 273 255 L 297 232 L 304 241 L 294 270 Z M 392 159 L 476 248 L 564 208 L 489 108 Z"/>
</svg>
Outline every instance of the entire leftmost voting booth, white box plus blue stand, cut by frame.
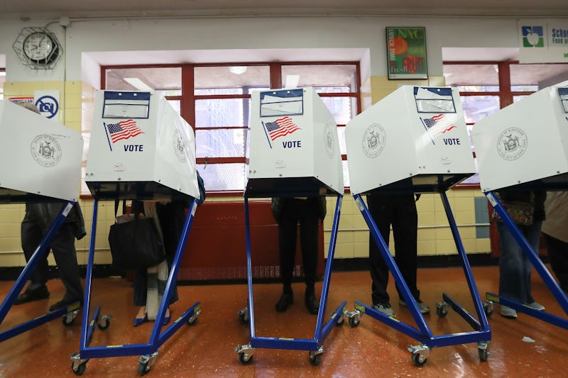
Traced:
<svg viewBox="0 0 568 378">
<path fill-rule="evenodd" d="M 77 205 L 83 139 L 80 133 L 38 113 L 0 101 L 0 204 L 58 202 L 53 220 L 20 276 L 0 306 L 0 323 L 16 301 L 28 277 L 49 252 L 49 245 L 67 215 Z M 63 316 L 69 325 L 79 303 L 52 311 L 0 333 L 0 342 Z"/>
</svg>

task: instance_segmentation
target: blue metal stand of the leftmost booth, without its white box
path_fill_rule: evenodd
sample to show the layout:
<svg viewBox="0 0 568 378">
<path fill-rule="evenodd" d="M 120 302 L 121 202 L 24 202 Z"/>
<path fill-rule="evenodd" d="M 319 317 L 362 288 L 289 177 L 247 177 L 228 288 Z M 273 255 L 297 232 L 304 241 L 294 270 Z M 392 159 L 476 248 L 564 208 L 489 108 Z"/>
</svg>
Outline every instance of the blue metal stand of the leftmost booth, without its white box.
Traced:
<svg viewBox="0 0 568 378">
<path fill-rule="evenodd" d="M 58 233 L 59 228 L 65 221 L 65 218 L 67 218 L 67 214 L 69 213 L 73 204 L 75 204 L 74 201 L 69 201 L 67 202 L 67 204 L 64 204 L 62 206 L 57 218 L 55 218 L 48 232 L 43 236 L 43 239 L 41 240 L 38 247 L 35 248 L 31 259 L 26 264 L 26 267 L 23 268 L 22 272 L 18 276 L 18 279 L 16 279 L 16 282 L 14 282 L 12 288 L 10 289 L 8 295 L 6 296 L 6 298 L 4 298 L 4 301 L 2 301 L 2 304 L 0 305 L 0 324 L 4 321 L 4 318 L 6 318 L 6 315 L 16 301 L 16 298 L 18 298 L 18 295 L 26 284 L 28 277 L 30 277 L 30 275 L 32 274 L 33 269 L 35 269 L 35 267 L 38 265 L 40 259 L 42 259 L 45 254 L 49 252 L 49 245 L 51 243 L 51 240 L 53 240 L 55 235 Z M 59 308 L 58 310 L 46 313 L 45 315 L 35 318 L 31 321 L 21 323 L 18 326 L 14 326 L 8 330 L 4 330 L 0 333 L 0 342 L 41 326 L 48 321 L 53 321 L 53 319 L 55 318 L 63 317 L 63 324 L 67 326 L 72 323 L 73 319 L 75 319 L 79 308 L 80 303 L 76 302 L 64 308 Z"/>
</svg>

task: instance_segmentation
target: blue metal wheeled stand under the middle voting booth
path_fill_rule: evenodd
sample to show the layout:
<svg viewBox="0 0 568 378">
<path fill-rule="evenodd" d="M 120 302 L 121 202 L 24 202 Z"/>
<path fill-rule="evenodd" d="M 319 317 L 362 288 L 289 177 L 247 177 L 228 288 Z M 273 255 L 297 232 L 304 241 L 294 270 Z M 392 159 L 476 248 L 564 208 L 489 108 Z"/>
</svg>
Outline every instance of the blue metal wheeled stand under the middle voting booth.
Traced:
<svg viewBox="0 0 568 378">
<path fill-rule="evenodd" d="M 249 199 L 247 196 L 244 198 L 245 204 L 245 228 L 246 228 L 246 272 L 247 283 L 249 288 L 249 306 L 239 312 L 241 319 L 250 323 L 251 341 L 247 345 L 239 345 L 235 351 L 239 354 L 239 361 L 243 365 L 252 362 L 254 348 L 271 348 L 271 349 L 290 349 L 290 350 L 309 350 L 310 362 L 312 365 L 319 365 L 324 349 L 322 344 L 331 332 L 335 324 L 341 324 L 344 320 L 344 308 L 346 302 L 344 301 L 332 313 L 329 321 L 323 326 L 323 317 L 325 308 L 327 306 L 327 294 L 329 291 L 329 280 L 332 275 L 332 263 L 335 252 L 335 245 L 337 242 L 337 230 L 339 228 L 339 216 L 341 214 L 343 196 L 337 197 L 337 204 L 335 206 L 335 214 L 332 227 L 332 235 L 329 240 L 329 250 L 327 254 L 327 262 L 325 265 L 324 280 L 322 286 L 322 296 L 320 297 L 320 308 L 317 313 L 317 321 L 315 326 L 315 335 L 312 339 L 297 339 L 297 338 L 266 338 L 256 335 L 254 327 L 254 302 L 253 302 L 253 278 L 252 278 L 252 263 L 251 263 L 251 236 L 249 227 Z"/>
</svg>

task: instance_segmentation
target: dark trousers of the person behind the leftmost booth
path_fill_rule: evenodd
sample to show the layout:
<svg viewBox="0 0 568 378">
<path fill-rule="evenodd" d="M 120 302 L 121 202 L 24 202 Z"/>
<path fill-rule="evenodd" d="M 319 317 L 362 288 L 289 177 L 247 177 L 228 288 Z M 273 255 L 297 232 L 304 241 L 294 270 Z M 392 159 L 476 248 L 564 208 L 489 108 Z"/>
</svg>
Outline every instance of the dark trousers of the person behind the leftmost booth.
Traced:
<svg viewBox="0 0 568 378">
<path fill-rule="evenodd" d="M 36 223 L 23 221 L 21 225 L 21 243 L 26 261 L 29 261 L 40 244 L 47 230 L 43 230 Z M 81 285 L 79 265 L 77 264 L 77 251 L 75 250 L 74 226 L 72 223 L 63 223 L 53 238 L 49 247 L 53 251 L 55 263 L 58 266 L 59 276 L 65 285 L 64 301 L 82 301 L 83 287 Z M 48 255 L 40 259 L 31 274 L 31 283 L 45 285 L 48 282 Z"/>
</svg>

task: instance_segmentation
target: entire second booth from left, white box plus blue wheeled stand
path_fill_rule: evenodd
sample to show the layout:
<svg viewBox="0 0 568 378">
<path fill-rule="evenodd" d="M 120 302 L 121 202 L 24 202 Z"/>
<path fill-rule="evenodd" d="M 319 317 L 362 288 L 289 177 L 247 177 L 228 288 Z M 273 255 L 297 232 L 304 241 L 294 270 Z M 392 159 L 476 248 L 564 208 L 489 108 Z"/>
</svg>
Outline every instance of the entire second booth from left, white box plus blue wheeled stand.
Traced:
<svg viewBox="0 0 568 378">
<path fill-rule="evenodd" d="M 72 355 L 72 370 L 82 374 L 94 357 L 141 355 L 138 374 L 143 375 L 151 369 L 158 348 L 185 323 L 195 323 L 201 311 L 197 302 L 161 330 L 200 199 L 191 126 L 160 92 L 98 91 L 85 182 L 94 198 L 91 235 L 96 235 L 99 200 L 114 200 L 115 212 L 119 199 L 185 201 L 190 207 L 147 344 L 89 346 L 95 325 L 106 329 L 110 318 L 100 314 L 100 307 L 94 309 L 90 321 L 88 318 L 95 249 L 94 238 L 91 240 L 80 352 Z"/>
</svg>

